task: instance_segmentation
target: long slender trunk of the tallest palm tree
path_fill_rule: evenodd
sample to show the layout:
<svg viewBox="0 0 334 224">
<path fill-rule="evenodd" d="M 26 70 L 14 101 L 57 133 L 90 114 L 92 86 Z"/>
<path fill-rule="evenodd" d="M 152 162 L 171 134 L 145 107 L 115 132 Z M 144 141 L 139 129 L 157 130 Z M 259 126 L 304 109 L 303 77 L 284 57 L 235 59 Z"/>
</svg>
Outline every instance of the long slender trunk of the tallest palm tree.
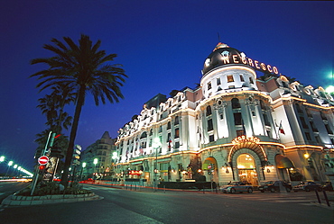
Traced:
<svg viewBox="0 0 334 224">
<path fill-rule="evenodd" d="M 77 102 L 76 109 L 75 109 L 75 112 L 74 112 L 72 127 L 70 129 L 69 147 L 68 147 L 68 150 L 67 150 L 67 153 L 66 153 L 63 173 L 61 175 L 61 184 L 64 185 L 65 188 L 69 184 L 69 173 L 70 173 L 69 169 L 70 169 L 70 164 L 72 162 L 72 157 L 73 157 L 74 141 L 75 141 L 76 136 L 77 136 L 77 130 L 78 130 L 78 125 L 79 125 L 79 117 L 80 117 L 82 106 L 85 102 L 85 92 L 86 92 L 86 86 L 85 85 L 80 85 L 79 94 L 78 94 L 78 102 Z"/>
</svg>

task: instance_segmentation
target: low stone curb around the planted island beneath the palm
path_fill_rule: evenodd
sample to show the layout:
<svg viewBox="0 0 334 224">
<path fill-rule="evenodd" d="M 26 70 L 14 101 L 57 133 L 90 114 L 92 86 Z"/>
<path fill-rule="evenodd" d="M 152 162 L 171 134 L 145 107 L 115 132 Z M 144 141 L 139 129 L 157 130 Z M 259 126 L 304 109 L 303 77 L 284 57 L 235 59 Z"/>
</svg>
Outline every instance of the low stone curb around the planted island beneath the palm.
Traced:
<svg viewBox="0 0 334 224">
<path fill-rule="evenodd" d="M 26 206 L 37 204 L 52 204 L 52 203 L 70 203 L 70 202 L 88 202 L 93 200 L 102 200 L 103 197 L 95 193 L 86 194 L 59 194 L 59 195 L 44 195 L 44 196 L 17 196 L 9 195 L 1 205 L 5 206 Z"/>
</svg>

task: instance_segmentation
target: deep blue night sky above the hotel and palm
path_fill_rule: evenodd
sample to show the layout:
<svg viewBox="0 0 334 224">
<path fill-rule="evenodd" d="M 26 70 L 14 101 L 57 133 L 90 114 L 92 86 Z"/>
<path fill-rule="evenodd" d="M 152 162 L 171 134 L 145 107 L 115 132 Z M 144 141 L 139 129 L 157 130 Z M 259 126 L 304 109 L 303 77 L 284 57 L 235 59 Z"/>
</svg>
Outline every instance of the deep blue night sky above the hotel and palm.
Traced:
<svg viewBox="0 0 334 224">
<path fill-rule="evenodd" d="M 32 170 L 35 134 L 46 129 L 36 108 L 32 58 L 52 38 L 90 36 L 128 76 L 120 103 L 87 97 L 76 144 L 87 148 L 117 130 L 155 94 L 194 88 L 204 60 L 220 41 L 313 87 L 333 84 L 334 2 L 15 0 L 0 6 L 0 156 Z M 218 35 L 219 33 L 219 35 Z M 74 107 L 66 111 L 73 114 Z M 6 168 L 0 165 L 0 172 Z"/>
</svg>

